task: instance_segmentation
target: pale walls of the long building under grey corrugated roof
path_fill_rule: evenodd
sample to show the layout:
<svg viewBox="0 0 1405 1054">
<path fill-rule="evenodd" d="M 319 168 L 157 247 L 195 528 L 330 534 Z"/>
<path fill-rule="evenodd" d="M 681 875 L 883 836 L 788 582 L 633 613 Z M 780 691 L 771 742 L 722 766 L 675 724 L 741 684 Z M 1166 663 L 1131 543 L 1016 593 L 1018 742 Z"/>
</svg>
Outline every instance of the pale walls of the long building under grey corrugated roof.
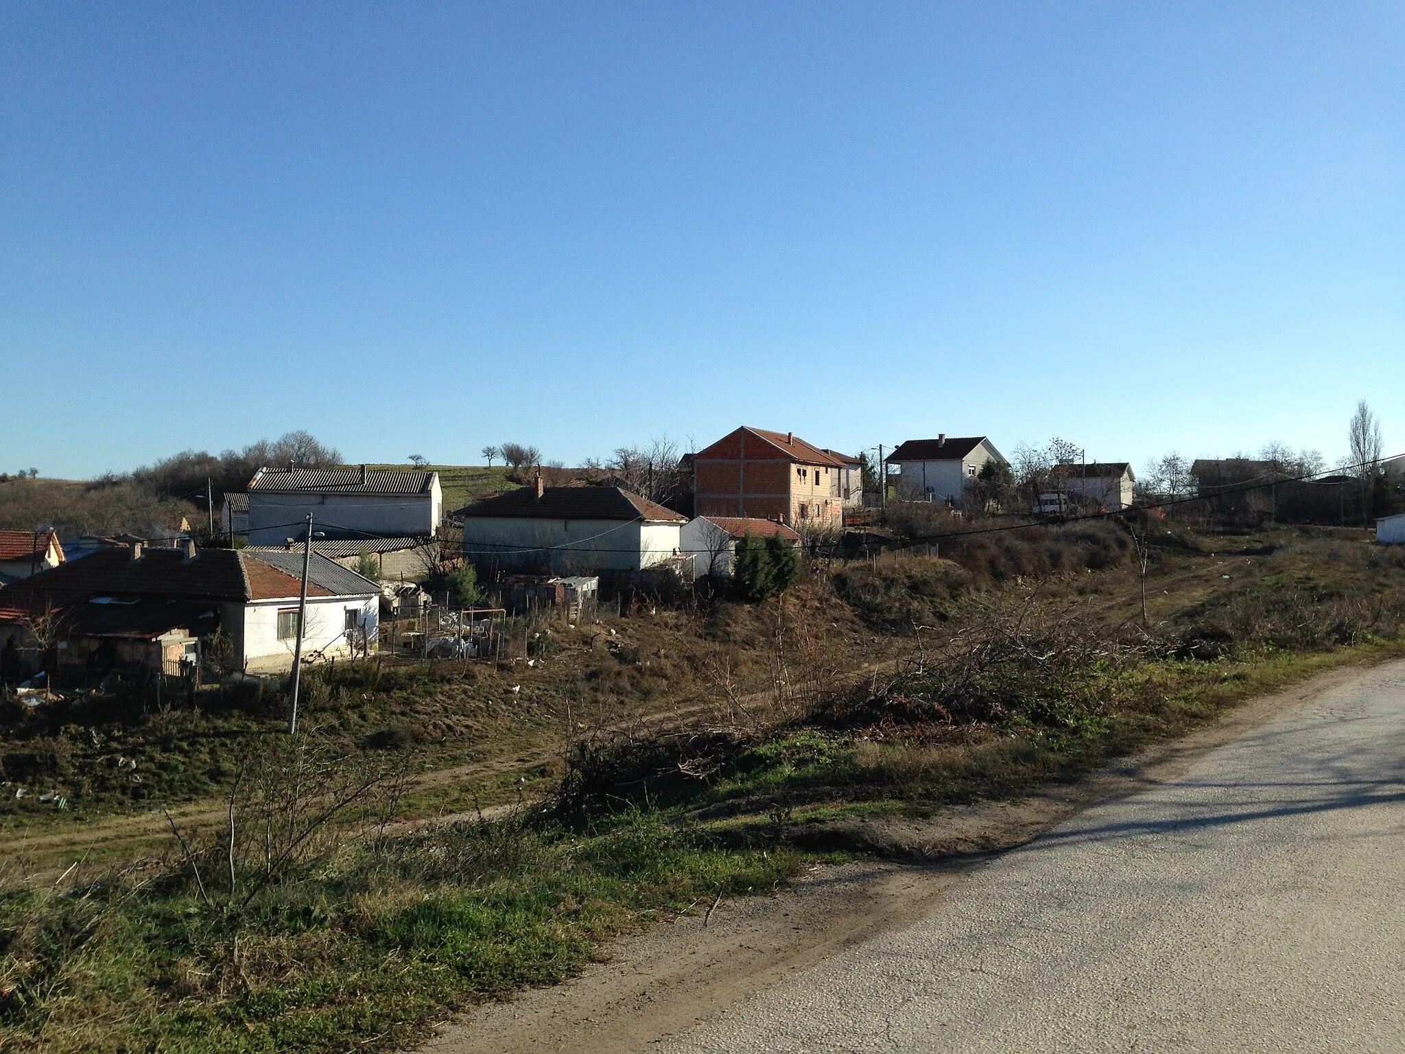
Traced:
<svg viewBox="0 0 1405 1054">
<path fill-rule="evenodd" d="M 327 537 L 339 528 L 368 534 L 437 534 L 443 497 L 429 495 L 302 495 L 249 492 L 249 544 L 281 545 L 302 537 L 312 513 L 313 530 L 322 524 Z"/>
</svg>

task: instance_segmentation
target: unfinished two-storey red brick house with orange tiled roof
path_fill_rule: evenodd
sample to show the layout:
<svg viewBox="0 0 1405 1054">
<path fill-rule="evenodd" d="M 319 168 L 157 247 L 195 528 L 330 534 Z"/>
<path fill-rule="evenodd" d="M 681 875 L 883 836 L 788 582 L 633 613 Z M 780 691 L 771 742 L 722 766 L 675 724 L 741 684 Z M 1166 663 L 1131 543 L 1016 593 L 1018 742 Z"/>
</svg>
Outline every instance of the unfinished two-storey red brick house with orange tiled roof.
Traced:
<svg viewBox="0 0 1405 1054">
<path fill-rule="evenodd" d="M 693 458 L 694 514 L 843 527 L 843 458 L 791 431 L 742 426 Z"/>
</svg>

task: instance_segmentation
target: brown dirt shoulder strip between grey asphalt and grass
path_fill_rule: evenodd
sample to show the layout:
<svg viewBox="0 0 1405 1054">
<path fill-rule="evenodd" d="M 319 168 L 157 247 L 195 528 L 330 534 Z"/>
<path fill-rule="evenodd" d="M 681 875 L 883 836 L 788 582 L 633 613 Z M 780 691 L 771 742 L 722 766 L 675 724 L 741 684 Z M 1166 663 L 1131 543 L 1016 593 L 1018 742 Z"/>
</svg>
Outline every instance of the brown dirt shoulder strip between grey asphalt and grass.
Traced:
<svg viewBox="0 0 1405 1054">
<path fill-rule="evenodd" d="M 724 901 L 710 920 L 698 905 L 691 915 L 620 942 L 608 961 L 572 982 L 485 1005 L 447 1024 L 422 1051 L 652 1048 L 797 971 L 930 916 L 993 853 L 1026 845 L 1083 809 L 1168 784 L 1214 748 L 1364 673 L 1360 666 L 1324 673 L 1229 711 L 1182 741 L 1021 801 L 946 809 L 922 822 L 854 821 L 854 845 L 926 860 L 816 868 L 788 891 Z"/>
</svg>

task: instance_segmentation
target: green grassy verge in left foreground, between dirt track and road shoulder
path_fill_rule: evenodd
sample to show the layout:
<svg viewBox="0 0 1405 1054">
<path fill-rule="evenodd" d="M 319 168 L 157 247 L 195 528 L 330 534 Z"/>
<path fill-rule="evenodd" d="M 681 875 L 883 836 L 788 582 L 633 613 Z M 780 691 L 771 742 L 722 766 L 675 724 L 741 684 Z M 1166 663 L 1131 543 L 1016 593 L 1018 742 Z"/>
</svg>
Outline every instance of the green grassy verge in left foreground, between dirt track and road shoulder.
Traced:
<svg viewBox="0 0 1405 1054">
<path fill-rule="evenodd" d="M 0 892 L 6 1050 L 403 1048 L 445 1009 L 579 971 L 607 936 L 809 860 L 628 811 L 357 846 L 244 912 L 184 868 Z M 212 883 L 214 877 L 207 878 Z"/>
</svg>

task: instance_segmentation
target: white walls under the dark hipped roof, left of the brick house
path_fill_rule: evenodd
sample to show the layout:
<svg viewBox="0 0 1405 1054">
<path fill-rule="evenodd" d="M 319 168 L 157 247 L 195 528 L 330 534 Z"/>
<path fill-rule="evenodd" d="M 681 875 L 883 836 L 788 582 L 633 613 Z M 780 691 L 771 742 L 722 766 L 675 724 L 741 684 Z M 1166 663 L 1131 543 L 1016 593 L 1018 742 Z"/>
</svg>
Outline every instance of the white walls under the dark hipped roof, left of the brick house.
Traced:
<svg viewBox="0 0 1405 1054">
<path fill-rule="evenodd" d="M 673 557 L 681 526 L 469 516 L 464 520 L 464 555 L 482 568 L 551 575 L 641 571 Z"/>
</svg>

